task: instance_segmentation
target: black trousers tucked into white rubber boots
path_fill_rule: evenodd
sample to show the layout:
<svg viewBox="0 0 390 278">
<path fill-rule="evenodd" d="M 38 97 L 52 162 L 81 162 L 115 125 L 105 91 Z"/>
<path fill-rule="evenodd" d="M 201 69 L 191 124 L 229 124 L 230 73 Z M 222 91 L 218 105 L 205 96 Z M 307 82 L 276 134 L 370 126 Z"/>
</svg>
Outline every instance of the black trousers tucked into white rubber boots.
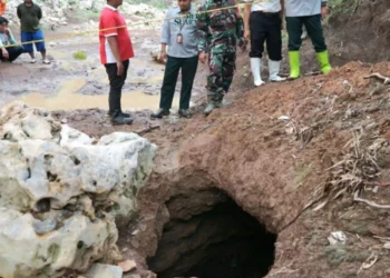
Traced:
<svg viewBox="0 0 390 278">
<path fill-rule="evenodd" d="M 262 58 L 264 42 L 266 51 L 273 61 L 282 60 L 282 19 L 276 13 L 253 11 L 250 17 L 251 58 Z"/>
</svg>

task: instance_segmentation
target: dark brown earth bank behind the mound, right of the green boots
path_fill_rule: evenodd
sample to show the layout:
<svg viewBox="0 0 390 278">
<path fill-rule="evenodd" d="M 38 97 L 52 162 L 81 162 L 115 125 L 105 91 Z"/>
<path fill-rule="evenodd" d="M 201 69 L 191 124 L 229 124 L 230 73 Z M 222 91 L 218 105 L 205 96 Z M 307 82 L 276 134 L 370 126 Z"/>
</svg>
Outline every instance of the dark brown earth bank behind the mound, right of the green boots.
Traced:
<svg viewBox="0 0 390 278">
<path fill-rule="evenodd" d="M 344 0 L 330 18 L 332 61 L 390 60 L 390 1 Z"/>
</svg>

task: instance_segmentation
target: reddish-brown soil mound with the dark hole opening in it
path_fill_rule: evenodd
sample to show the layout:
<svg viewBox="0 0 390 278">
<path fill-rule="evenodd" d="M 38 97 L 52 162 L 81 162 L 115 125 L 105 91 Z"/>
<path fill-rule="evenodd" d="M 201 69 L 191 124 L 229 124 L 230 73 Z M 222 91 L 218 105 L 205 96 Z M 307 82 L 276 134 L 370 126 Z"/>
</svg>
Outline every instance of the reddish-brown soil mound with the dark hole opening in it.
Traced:
<svg viewBox="0 0 390 278">
<path fill-rule="evenodd" d="M 329 76 L 237 93 L 207 118 L 198 108 L 189 120 L 159 121 L 160 129 L 145 135 L 159 150 L 139 216 L 118 224 L 124 255 L 136 257 L 138 274 L 152 277 L 142 270 L 148 262 L 158 277 L 208 278 L 205 269 L 225 269 L 224 277 L 250 278 L 274 264 L 267 277 L 389 277 L 389 209 L 352 196 L 390 203 L 390 87 L 364 79 L 370 72 L 390 76 L 390 63 L 348 63 Z M 150 125 L 144 113 L 135 127 L 113 128 L 103 113 L 57 117 L 94 136 Z M 329 244 L 338 230 L 345 245 Z M 234 250 L 263 264 L 241 261 Z"/>
</svg>

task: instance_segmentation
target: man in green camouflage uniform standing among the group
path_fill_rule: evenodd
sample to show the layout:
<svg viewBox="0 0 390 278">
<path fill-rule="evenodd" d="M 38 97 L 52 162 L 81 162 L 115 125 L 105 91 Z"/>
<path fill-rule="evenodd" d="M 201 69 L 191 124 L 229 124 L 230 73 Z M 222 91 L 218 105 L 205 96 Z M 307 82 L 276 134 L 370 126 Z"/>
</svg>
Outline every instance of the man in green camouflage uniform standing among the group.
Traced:
<svg viewBox="0 0 390 278">
<path fill-rule="evenodd" d="M 207 77 L 208 106 L 204 113 L 209 115 L 214 108 L 222 106 L 222 100 L 231 87 L 235 71 L 236 46 L 245 51 L 244 22 L 235 0 L 205 0 L 198 9 L 197 48 L 199 61 L 205 63 L 208 57 L 209 75 Z M 208 10 L 221 9 L 212 12 Z M 224 9 L 225 8 L 225 9 Z"/>
</svg>

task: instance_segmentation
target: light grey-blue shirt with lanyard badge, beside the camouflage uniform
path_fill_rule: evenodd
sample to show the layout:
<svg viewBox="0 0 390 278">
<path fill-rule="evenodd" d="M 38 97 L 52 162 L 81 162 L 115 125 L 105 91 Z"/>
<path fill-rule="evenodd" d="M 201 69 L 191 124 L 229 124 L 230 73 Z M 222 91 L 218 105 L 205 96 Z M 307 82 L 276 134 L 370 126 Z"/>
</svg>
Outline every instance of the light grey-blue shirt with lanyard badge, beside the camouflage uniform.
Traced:
<svg viewBox="0 0 390 278">
<path fill-rule="evenodd" d="M 196 43 L 196 9 L 192 6 L 188 16 L 169 19 L 181 13 L 181 8 L 172 8 L 167 11 L 162 31 L 162 43 L 168 44 L 167 54 L 175 58 L 191 58 L 198 54 Z M 183 43 L 177 42 L 177 34 L 182 33 Z"/>
</svg>

